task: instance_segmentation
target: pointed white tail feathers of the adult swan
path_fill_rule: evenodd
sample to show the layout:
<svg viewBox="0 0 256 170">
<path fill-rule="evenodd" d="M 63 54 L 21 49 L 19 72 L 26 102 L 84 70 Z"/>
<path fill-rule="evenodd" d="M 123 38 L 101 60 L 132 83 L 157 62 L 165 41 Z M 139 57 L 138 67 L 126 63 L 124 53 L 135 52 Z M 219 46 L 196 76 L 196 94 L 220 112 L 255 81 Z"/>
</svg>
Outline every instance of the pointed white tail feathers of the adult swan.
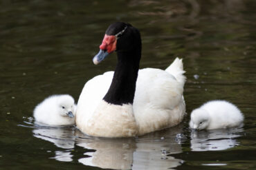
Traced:
<svg viewBox="0 0 256 170">
<path fill-rule="evenodd" d="M 174 76 L 176 80 L 184 86 L 186 77 L 183 75 L 185 71 L 183 70 L 182 59 L 177 57 L 174 62 L 165 69 L 165 71 L 172 74 L 172 76 Z"/>
</svg>

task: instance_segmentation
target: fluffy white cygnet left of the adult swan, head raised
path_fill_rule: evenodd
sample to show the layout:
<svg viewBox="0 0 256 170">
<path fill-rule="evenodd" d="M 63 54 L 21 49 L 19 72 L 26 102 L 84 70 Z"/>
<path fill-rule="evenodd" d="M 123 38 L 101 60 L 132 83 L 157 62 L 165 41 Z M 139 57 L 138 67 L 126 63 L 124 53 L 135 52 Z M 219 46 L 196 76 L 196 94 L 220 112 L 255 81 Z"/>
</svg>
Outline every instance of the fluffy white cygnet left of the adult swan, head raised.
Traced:
<svg viewBox="0 0 256 170">
<path fill-rule="evenodd" d="M 46 125 L 74 125 L 75 100 L 68 94 L 53 95 L 34 109 L 36 123 Z"/>
</svg>

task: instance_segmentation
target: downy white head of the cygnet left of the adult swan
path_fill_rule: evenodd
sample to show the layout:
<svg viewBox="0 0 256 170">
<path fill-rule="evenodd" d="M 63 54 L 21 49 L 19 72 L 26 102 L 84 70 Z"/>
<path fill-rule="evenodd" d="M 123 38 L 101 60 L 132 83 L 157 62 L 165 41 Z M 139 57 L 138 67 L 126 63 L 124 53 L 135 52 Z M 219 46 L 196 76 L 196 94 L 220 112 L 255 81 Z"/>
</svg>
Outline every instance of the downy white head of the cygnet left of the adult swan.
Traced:
<svg viewBox="0 0 256 170">
<path fill-rule="evenodd" d="M 64 94 L 57 98 L 57 109 L 61 116 L 75 117 L 75 100 L 68 94 Z"/>
</svg>

